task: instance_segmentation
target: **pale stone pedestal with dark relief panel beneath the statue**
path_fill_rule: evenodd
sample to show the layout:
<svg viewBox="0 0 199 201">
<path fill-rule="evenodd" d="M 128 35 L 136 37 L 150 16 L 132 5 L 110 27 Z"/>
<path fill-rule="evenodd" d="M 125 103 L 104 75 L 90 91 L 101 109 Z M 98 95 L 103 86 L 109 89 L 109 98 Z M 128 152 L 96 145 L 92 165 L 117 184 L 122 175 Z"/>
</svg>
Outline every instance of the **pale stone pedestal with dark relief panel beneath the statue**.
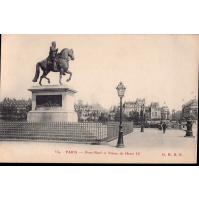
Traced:
<svg viewBox="0 0 199 201">
<path fill-rule="evenodd" d="M 77 92 L 66 85 L 34 86 L 32 110 L 28 122 L 78 122 L 74 111 L 74 94 Z"/>
</svg>

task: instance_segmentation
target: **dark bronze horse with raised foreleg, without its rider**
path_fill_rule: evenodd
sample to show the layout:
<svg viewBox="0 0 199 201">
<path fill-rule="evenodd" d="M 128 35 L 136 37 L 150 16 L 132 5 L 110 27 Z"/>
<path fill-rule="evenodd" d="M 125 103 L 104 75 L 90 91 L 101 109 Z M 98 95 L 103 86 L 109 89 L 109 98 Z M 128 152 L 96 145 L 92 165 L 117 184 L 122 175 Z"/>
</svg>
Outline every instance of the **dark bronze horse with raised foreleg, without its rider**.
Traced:
<svg viewBox="0 0 199 201">
<path fill-rule="evenodd" d="M 40 85 L 42 85 L 41 81 L 42 81 L 43 78 L 46 78 L 48 80 L 48 83 L 50 84 L 50 79 L 46 77 L 50 71 L 52 71 L 52 72 L 60 72 L 59 83 L 61 85 L 62 85 L 62 82 L 61 82 L 62 75 L 65 75 L 65 73 L 70 74 L 70 77 L 66 80 L 66 82 L 70 81 L 71 77 L 72 77 L 72 72 L 70 72 L 68 70 L 68 68 L 69 68 L 68 61 L 70 59 L 71 60 L 75 59 L 74 55 L 73 55 L 73 50 L 65 48 L 57 55 L 57 64 L 56 65 L 57 65 L 57 70 L 58 71 L 54 70 L 53 62 L 49 62 L 48 58 L 42 60 L 41 62 L 38 62 L 37 65 L 36 65 L 35 77 L 34 77 L 34 79 L 32 81 L 37 82 L 37 79 L 39 78 L 40 68 L 43 70 L 43 75 L 40 77 L 40 81 L 39 81 Z"/>
</svg>

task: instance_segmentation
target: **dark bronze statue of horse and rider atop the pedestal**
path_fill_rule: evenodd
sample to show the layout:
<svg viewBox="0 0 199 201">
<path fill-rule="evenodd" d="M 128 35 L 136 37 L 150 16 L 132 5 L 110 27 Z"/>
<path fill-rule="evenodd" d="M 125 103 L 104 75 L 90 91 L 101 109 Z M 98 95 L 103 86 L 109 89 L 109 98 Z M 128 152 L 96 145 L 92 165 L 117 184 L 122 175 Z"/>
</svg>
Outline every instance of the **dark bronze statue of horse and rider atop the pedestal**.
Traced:
<svg viewBox="0 0 199 201">
<path fill-rule="evenodd" d="M 71 80 L 72 72 L 68 70 L 68 62 L 75 59 L 73 55 L 73 49 L 65 48 L 60 53 L 57 52 L 58 48 L 56 49 L 56 42 L 53 41 L 52 46 L 50 47 L 49 56 L 46 59 L 38 62 L 36 65 L 36 73 L 34 79 L 32 80 L 33 82 L 37 82 L 37 79 L 39 78 L 40 68 L 43 70 L 43 75 L 40 77 L 39 81 L 40 85 L 42 85 L 41 81 L 43 78 L 47 79 L 48 83 L 50 84 L 50 79 L 46 77 L 50 71 L 60 72 L 59 83 L 61 85 L 62 75 L 66 75 L 65 73 L 70 74 L 70 77 L 66 81 L 68 82 Z"/>
</svg>

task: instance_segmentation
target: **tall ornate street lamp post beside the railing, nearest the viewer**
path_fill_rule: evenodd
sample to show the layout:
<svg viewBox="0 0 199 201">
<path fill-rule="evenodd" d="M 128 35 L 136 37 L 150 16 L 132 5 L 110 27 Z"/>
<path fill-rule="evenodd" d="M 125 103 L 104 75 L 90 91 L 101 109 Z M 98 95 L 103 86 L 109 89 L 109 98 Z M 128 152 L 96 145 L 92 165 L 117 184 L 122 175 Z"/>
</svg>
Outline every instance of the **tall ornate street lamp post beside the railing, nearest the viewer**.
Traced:
<svg viewBox="0 0 199 201">
<path fill-rule="evenodd" d="M 117 86 L 117 92 L 118 96 L 120 97 L 120 125 L 119 125 L 119 136 L 118 136 L 118 142 L 117 142 L 117 148 L 123 148 L 124 142 L 123 142 L 123 131 L 122 131 L 122 98 L 124 97 L 124 92 L 126 87 L 122 84 L 122 82 L 119 83 Z"/>
</svg>

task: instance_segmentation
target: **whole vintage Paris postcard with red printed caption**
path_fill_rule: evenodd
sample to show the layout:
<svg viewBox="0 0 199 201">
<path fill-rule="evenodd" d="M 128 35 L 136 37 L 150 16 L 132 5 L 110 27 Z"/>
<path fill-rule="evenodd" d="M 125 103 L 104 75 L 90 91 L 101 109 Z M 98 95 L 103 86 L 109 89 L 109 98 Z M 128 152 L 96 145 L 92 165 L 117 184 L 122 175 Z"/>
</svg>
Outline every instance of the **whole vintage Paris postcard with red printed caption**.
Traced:
<svg viewBox="0 0 199 201">
<path fill-rule="evenodd" d="M 196 164 L 199 35 L 2 35 L 0 162 Z"/>
</svg>

